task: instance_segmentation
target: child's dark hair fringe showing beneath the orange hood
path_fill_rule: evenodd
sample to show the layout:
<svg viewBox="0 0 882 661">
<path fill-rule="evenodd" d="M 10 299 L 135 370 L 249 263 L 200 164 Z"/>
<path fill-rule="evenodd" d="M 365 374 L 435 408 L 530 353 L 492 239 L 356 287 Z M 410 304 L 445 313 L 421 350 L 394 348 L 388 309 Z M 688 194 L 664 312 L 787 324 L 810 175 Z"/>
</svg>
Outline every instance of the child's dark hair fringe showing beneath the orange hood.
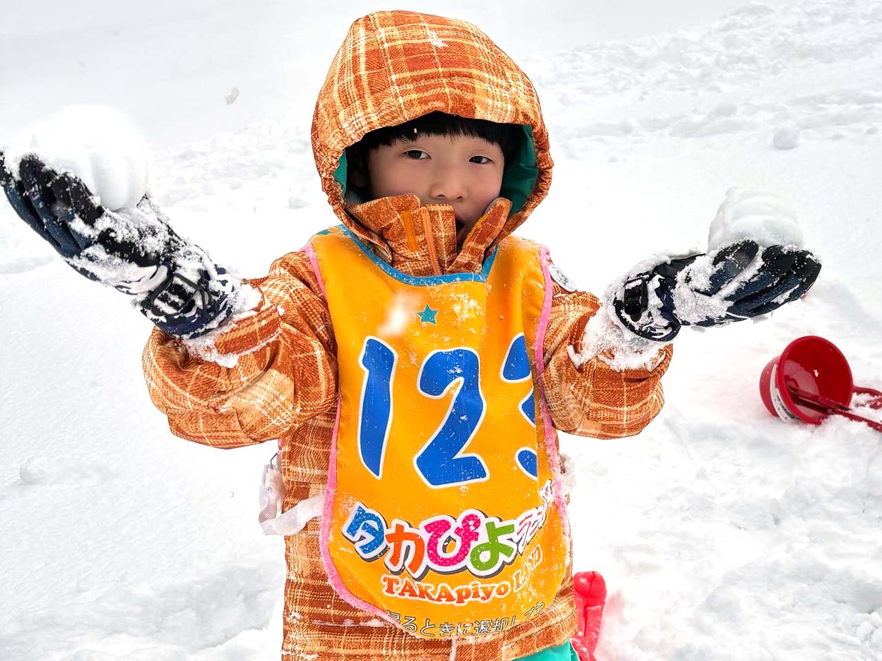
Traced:
<svg viewBox="0 0 882 661">
<path fill-rule="evenodd" d="M 387 126 L 372 130 L 355 145 L 346 149 L 347 181 L 352 181 L 353 170 L 367 174 L 368 153 L 380 145 L 392 145 L 396 140 L 415 142 L 423 136 L 472 136 L 499 145 L 508 166 L 517 160 L 520 146 L 524 141 L 524 130 L 520 124 L 502 124 L 485 119 L 469 119 L 459 115 L 448 115 L 440 111 L 422 115 L 397 126 Z"/>
</svg>

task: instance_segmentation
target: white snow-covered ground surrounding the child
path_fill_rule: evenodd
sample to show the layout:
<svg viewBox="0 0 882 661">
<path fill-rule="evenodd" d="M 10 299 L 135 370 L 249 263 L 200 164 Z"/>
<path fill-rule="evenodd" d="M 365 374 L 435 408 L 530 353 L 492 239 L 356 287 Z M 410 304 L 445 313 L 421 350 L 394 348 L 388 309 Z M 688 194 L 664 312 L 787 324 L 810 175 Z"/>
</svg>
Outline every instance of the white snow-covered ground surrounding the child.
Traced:
<svg viewBox="0 0 882 661">
<path fill-rule="evenodd" d="M 376 6 L 246 16 L 191 0 L 142 17 L 90 0 L 35 23 L 46 4 L 4 8 L 0 143 L 29 104 L 43 115 L 116 91 L 153 142 L 154 197 L 220 261 L 262 275 L 334 222 L 308 107 L 349 19 Z M 810 295 L 770 320 L 684 331 L 643 434 L 563 438 L 579 465 L 577 566 L 610 590 L 598 658 L 875 661 L 882 434 L 787 426 L 757 383 L 791 339 L 816 334 L 882 389 L 882 4 L 672 5 L 633 24 L 617 9 L 606 34 L 619 41 L 603 41 L 602 10 L 574 19 L 572 3 L 545 20 L 526 2 L 505 19 L 430 8 L 474 19 L 539 88 L 557 167 L 522 234 L 580 286 L 700 247 L 732 185 L 788 198 L 824 260 Z M 285 568 L 256 507 L 273 448 L 169 434 L 140 371 L 149 323 L 6 204 L 0 301 L 0 658 L 277 658 Z"/>
</svg>

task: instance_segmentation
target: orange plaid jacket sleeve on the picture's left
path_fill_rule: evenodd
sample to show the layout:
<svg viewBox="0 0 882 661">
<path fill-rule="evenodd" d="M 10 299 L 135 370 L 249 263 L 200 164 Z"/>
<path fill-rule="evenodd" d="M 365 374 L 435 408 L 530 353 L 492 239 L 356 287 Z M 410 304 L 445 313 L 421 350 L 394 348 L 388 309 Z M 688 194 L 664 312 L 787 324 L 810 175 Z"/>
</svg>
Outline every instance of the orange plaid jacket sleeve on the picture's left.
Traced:
<svg viewBox="0 0 882 661">
<path fill-rule="evenodd" d="M 220 360 L 158 329 L 147 341 L 147 389 L 176 436 L 235 448 L 279 438 L 334 405 L 336 345 L 309 257 L 289 253 L 246 282 L 263 301 L 214 339 Z"/>
</svg>

